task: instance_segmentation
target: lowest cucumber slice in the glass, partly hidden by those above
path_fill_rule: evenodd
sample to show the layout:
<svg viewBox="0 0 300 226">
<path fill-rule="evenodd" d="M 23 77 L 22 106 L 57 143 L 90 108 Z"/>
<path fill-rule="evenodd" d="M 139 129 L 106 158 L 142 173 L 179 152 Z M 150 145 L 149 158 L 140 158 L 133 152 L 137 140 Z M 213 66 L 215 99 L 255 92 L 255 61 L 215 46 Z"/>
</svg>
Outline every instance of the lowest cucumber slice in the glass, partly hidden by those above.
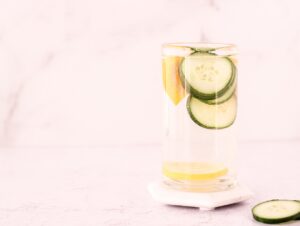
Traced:
<svg viewBox="0 0 300 226">
<path fill-rule="evenodd" d="M 232 125 L 236 118 L 237 101 L 235 95 L 222 104 L 211 105 L 189 96 L 187 109 L 191 119 L 207 129 L 223 129 Z"/>
</svg>

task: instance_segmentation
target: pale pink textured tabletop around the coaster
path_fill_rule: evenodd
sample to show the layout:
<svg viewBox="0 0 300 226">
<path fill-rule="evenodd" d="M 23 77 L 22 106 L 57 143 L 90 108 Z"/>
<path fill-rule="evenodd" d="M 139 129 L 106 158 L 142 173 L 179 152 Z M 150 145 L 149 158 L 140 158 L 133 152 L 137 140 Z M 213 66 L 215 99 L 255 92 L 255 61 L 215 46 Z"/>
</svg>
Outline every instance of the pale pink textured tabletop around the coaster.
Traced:
<svg viewBox="0 0 300 226">
<path fill-rule="evenodd" d="M 240 145 L 240 181 L 255 197 L 212 212 L 152 200 L 146 185 L 159 178 L 159 146 L 0 149 L 0 225 L 260 225 L 250 213 L 255 203 L 300 198 L 299 148 L 296 141 Z"/>
</svg>

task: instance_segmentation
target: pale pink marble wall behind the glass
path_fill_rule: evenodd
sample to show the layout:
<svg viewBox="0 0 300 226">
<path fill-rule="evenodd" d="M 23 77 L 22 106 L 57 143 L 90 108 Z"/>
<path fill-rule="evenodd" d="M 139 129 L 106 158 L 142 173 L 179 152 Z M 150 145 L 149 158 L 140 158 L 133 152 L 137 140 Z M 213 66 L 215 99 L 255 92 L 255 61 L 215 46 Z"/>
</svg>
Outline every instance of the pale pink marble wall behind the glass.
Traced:
<svg viewBox="0 0 300 226">
<path fill-rule="evenodd" d="M 1 1 L 0 145 L 160 144 L 160 47 L 174 41 L 239 46 L 242 141 L 300 139 L 299 7 Z"/>
</svg>

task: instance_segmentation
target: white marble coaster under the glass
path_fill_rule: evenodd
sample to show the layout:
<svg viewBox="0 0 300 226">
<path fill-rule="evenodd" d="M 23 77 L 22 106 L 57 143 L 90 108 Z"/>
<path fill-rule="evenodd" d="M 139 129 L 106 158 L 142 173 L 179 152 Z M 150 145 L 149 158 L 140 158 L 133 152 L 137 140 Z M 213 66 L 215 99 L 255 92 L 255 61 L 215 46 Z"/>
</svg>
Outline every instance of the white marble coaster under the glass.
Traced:
<svg viewBox="0 0 300 226">
<path fill-rule="evenodd" d="M 200 210 L 212 210 L 216 207 L 226 206 L 250 199 L 253 193 L 246 187 L 236 185 L 235 188 L 219 192 L 186 192 L 174 190 L 161 182 L 148 185 L 148 191 L 154 200 L 176 206 L 198 207 Z"/>
</svg>

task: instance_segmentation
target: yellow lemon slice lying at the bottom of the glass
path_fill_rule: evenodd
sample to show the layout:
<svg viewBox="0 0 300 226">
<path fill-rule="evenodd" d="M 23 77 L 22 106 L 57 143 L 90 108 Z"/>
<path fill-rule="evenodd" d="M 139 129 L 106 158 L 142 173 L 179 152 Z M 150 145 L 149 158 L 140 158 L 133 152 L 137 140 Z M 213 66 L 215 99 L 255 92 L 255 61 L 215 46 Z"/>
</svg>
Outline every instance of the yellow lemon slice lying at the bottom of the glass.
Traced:
<svg viewBox="0 0 300 226">
<path fill-rule="evenodd" d="M 212 180 L 226 175 L 228 169 L 219 163 L 165 162 L 163 174 L 174 180 Z"/>
</svg>

